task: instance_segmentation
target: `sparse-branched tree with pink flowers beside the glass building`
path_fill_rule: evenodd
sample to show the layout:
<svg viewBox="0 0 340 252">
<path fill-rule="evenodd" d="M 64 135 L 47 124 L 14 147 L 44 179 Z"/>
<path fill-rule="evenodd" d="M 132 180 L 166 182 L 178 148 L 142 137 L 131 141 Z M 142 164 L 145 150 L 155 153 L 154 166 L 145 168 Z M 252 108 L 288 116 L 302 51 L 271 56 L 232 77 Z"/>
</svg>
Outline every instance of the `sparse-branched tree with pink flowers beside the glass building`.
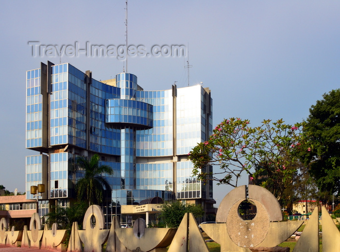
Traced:
<svg viewBox="0 0 340 252">
<path fill-rule="evenodd" d="M 264 169 L 270 168 L 265 181 L 279 179 L 280 185 L 285 187 L 296 172 L 296 166 L 291 164 L 296 150 L 302 147 L 302 126 L 301 123 L 285 124 L 279 119 L 276 122 L 264 120 L 261 126 L 253 128 L 249 120 L 224 119 L 208 141 L 199 143 L 189 152 L 188 158 L 194 164 L 193 174 L 202 181 L 211 179 L 218 185 L 236 187 L 241 173 L 248 174 L 255 182 L 256 176 L 263 176 Z M 206 172 L 204 167 L 208 165 L 219 169 Z M 264 187 L 265 181 L 261 182 Z"/>
</svg>

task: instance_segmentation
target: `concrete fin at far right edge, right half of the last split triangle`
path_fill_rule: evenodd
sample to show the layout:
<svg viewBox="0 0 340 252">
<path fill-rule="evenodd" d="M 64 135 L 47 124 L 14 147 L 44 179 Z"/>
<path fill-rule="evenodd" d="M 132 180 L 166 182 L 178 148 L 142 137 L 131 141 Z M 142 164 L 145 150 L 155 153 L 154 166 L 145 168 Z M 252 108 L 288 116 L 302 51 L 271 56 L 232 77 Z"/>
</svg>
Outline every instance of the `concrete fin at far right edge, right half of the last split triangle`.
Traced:
<svg viewBox="0 0 340 252">
<path fill-rule="evenodd" d="M 324 206 L 322 207 L 322 217 L 323 217 L 323 252 L 339 252 L 340 232 Z"/>
</svg>

